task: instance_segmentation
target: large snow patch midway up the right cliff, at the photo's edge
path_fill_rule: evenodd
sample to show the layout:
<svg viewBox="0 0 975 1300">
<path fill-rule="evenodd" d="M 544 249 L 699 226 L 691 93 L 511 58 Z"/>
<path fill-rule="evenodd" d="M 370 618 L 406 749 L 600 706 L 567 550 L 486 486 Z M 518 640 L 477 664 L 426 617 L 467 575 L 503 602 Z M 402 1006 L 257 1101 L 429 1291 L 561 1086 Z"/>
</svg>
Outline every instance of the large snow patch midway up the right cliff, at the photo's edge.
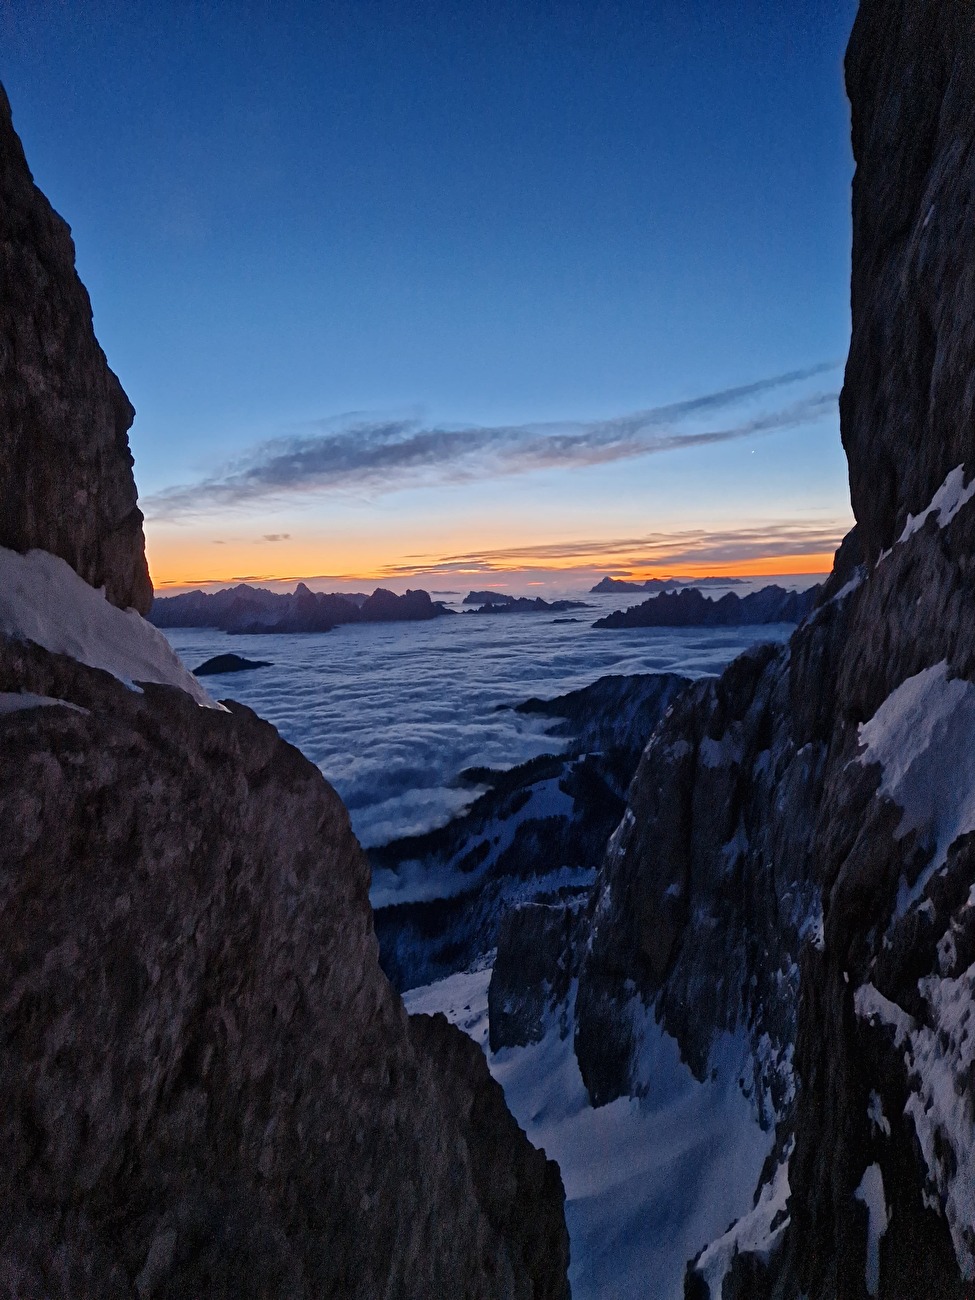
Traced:
<svg viewBox="0 0 975 1300">
<path fill-rule="evenodd" d="M 915 904 L 944 866 L 953 841 L 975 829 L 975 685 L 948 677 L 942 660 L 893 690 L 868 723 L 861 763 L 880 763 L 880 793 L 904 814 L 897 836 L 916 831 L 933 848 L 913 888 L 902 881 L 897 915 Z"/>
</svg>

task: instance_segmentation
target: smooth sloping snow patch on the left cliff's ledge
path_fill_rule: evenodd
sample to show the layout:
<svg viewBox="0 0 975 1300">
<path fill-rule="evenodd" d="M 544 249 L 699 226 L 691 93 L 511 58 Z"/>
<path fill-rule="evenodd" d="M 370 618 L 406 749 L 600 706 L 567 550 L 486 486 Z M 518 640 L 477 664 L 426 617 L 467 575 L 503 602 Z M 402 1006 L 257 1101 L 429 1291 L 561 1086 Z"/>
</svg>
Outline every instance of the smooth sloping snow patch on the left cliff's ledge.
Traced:
<svg viewBox="0 0 975 1300">
<path fill-rule="evenodd" d="M 207 708 L 220 708 L 177 658 L 166 638 L 135 610 L 109 604 L 66 560 L 48 551 L 0 547 L 0 632 L 101 668 L 133 686 L 178 686 Z"/>
</svg>

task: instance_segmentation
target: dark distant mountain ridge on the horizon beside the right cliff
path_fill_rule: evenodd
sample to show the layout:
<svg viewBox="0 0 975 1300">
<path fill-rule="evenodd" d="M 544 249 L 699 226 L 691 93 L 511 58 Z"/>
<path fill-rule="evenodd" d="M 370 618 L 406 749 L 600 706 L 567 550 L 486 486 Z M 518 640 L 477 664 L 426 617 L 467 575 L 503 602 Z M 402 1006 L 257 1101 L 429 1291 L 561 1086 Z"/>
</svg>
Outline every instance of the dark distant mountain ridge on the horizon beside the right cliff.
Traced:
<svg viewBox="0 0 975 1300">
<path fill-rule="evenodd" d="M 616 610 L 597 619 L 594 628 L 727 628 L 762 623 L 801 623 L 816 603 L 819 586 L 806 592 L 786 592 L 763 586 L 740 597 L 728 592 L 720 601 L 688 588 L 662 592 L 629 610 Z"/>
</svg>

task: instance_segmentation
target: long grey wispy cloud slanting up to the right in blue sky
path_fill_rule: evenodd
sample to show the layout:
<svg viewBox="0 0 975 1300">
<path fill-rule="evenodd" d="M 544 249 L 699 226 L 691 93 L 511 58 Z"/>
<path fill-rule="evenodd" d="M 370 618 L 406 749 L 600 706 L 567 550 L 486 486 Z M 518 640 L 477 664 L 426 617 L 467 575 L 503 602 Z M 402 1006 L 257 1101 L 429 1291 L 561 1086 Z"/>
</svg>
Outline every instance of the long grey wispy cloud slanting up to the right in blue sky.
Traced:
<svg viewBox="0 0 975 1300">
<path fill-rule="evenodd" d="M 420 484 L 472 482 L 537 469 L 606 464 L 772 434 L 833 413 L 837 393 L 803 395 L 779 410 L 710 428 L 694 425 L 833 369 L 836 363 L 824 363 L 611 420 L 425 428 L 419 420 L 356 419 L 338 430 L 333 421 L 322 421 L 313 434 L 260 443 L 199 482 L 147 497 L 143 508 L 151 519 L 178 519 L 265 506 L 309 493 L 381 494 Z"/>
</svg>

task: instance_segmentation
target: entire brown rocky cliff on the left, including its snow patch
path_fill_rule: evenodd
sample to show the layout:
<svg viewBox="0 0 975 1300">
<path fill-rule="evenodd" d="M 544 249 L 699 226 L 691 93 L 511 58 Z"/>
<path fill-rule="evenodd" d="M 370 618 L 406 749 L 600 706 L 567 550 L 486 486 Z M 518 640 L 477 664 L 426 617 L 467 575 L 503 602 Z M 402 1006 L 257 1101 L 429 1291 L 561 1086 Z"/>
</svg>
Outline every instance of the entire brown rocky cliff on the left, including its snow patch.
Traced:
<svg viewBox="0 0 975 1300">
<path fill-rule="evenodd" d="M 407 1018 L 337 794 L 86 585 L 150 599 L 131 412 L 0 157 L 0 1291 L 562 1300 L 558 1169 Z"/>
</svg>

